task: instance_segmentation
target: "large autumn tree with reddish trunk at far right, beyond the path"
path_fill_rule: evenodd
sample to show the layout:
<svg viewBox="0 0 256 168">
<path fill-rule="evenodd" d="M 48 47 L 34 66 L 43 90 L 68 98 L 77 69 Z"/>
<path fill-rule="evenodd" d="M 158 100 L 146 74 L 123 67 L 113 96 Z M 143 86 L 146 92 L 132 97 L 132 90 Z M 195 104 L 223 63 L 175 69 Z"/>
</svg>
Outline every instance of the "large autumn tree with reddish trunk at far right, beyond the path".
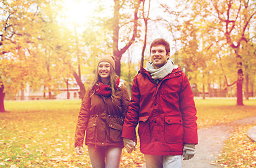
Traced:
<svg viewBox="0 0 256 168">
<path fill-rule="evenodd" d="M 233 54 L 236 55 L 237 65 L 236 70 L 233 69 L 237 73 L 237 78 L 234 82 L 237 90 L 237 105 L 243 105 L 244 59 L 241 50 L 243 48 L 242 43 L 252 41 L 252 36 L 255 36 L 255 34 L 252 34 L 252 29 L 255 27 L 250 27 L 250 23 L 252 25 L 255 23 L 255 3 L 250 0 L 205 0 L 200 1 L 200 3 L 198 1 L 188 1 L 186 4 L 180 1 L 177 6 L 177 9 L 179 8 L 183 9 L 182 13 L 186 11 L 186 15 L 179 15 L 181 22 L 193 20 L 191 24 L 198 27 L 198 32 L 201 32 L 202 28 L 206 27 L 210 30 L 207 36 L 214 34 L 212 36 L 214 38 L 208 38 L 207 40 L 207 43 L 212 43 L 209 46 L 222 46 L 216 48 L 216 50 L 229 50 L 229 48 L 233 50 Z M 187 30 L 189 31 L 189 29 Z M 190 32 L 193 34 L 193 31 Z M 226 75 L 228 76 L 228 74 Z M 231 86 L 228 80 L 226 80 L 226 86 Z"/>
</svg>

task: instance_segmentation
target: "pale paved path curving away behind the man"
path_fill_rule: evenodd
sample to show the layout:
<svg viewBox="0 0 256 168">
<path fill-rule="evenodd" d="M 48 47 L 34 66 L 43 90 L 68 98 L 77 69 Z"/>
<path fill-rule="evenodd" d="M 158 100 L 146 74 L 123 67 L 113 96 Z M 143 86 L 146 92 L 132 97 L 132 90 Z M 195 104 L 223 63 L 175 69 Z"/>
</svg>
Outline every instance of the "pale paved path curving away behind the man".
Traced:
<svg viewBox="0 0 256 168">
<path fill-rule="evenodd" d="M 233 123 L 206 127 L 198 130 L 198 145 L 196 155 L 191 160 L 182 162 L 182 168 L 219 168 L 215 161 L 222 154 L 224 141 L 229 139 L 231 130 L 236 125 L 256 123 L 256 116 L 236 120 Z M 143 167 L 146 167 L 145 165 Z"/>
</svg>

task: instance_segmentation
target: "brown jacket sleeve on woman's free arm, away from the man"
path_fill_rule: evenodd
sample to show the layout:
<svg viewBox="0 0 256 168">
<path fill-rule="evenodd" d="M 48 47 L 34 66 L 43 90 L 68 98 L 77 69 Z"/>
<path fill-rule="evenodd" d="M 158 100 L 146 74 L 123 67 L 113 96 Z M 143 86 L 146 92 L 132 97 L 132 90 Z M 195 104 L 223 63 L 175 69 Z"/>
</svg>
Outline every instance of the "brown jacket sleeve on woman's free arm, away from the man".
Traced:
<svg viewBox="0 0 256 168">
<path fill-rule="evenodd" d="M 87 123 L 90 117 L 90 107 L 91 107 L 91 97 L 90 89 L 87 90 L 82 101 L 82 105 L 79 111 L 79 116 L 77 120 L 77 127 L 75 130 L 75 147 L 83 146 L 84 143 L 84 134 L 87 130 Z"/>
</svg>

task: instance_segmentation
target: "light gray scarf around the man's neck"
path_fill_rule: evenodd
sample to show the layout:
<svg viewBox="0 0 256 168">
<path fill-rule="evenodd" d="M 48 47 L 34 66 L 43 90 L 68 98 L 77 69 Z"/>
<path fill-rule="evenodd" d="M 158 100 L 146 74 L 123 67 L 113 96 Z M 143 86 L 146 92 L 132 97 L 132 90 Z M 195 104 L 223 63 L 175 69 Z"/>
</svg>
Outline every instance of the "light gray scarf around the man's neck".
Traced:
<svg viewBox="0 0 256 168">
<path fill-rule="evenodd" d="M 171 73 L 174 68 L 177 68 L 177 66 L 174 66 L 172 59 L 168 59 L 167 63 L 159 69 L 155 69 L 151 61 L 146 64 L 145 69 L 151 73 L 153 80 L 158 80 L 158 83 L 159 80 L 162 80 L 162 78 L 165 78 L 165 76 Z"/>
</svg>

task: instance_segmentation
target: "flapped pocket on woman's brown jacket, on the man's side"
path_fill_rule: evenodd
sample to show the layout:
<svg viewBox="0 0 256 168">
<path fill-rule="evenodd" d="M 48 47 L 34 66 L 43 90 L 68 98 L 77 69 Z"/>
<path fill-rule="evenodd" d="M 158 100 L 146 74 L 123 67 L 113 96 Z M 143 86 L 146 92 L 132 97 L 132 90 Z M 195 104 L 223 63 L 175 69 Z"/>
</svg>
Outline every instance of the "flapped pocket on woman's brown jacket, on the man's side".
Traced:
<svg viewBox="0 0 256 168">
<path fill-rule="evenodd" d="M 122 141 L 122 125 L 110 120 L 109 123 L 109 138 L 110 141 L 117 142 Z"/>
</svg>

